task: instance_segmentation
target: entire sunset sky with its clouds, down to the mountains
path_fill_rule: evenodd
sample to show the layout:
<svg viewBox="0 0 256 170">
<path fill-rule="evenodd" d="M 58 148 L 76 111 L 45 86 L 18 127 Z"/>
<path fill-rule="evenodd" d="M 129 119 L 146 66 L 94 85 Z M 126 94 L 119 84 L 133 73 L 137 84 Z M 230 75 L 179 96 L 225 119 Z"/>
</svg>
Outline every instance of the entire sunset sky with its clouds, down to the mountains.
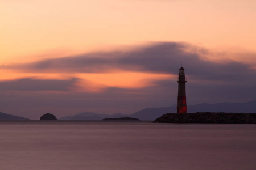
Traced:
<svg viewBox="0 0 256 170">
<path fill-rule="evenodd" d="M 187 105 L 256 98 L 254 0 L 0 3 L 0 112 L 168 107 L 181 62 Z"/>
</svg>

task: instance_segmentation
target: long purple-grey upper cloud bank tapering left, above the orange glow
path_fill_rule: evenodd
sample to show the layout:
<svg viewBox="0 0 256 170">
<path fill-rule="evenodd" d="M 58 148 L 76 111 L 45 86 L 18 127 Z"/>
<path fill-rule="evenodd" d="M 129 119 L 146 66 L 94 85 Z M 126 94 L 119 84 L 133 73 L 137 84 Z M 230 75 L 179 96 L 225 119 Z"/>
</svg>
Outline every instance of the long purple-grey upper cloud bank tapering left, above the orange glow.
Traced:
<svg viewBox="0 0 256 170">
<path fill-rule="evenodd" d="M 214 62 L 202 57 L 207 49 L 183 42 L 155 42 L 131 50 L 94 52 L 27 63 L 10 67 L 32 72 L 106 73 L 111 71 L 141 71 L 176 74 L 181 61 L 186 73 L 194 79 L 232 81 L 254 76 L 253 63 L 226 60 Z M 5 67 L 6 68 L 6 67 Z"/>
</svg>

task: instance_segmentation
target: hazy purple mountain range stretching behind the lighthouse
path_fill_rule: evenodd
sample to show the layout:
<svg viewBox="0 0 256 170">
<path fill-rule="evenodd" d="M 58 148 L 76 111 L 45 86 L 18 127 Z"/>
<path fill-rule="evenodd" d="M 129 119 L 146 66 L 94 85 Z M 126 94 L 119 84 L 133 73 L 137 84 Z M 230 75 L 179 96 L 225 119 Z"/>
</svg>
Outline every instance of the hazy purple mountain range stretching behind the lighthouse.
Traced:
<svg viewBox="0 0 256 170">
<path fill-rule="evenodd" d="M 256 100 L 246 103 L 216 103 L 216 104 L 196 104 L 188 106 L 189 113 L 196 112 L 229 112 L 229 113 L 256 113 Z M 166 113 L 176 113 L 176 105 L 161 108 L 146 108 L 133 114 L 98 114 L 92 112 L 84 112 L 75 116 L 65 116 L 59 120 L 102 120 L 103 118 L 133 117 L 140 120 L 155 120 Z"/>
</svg>

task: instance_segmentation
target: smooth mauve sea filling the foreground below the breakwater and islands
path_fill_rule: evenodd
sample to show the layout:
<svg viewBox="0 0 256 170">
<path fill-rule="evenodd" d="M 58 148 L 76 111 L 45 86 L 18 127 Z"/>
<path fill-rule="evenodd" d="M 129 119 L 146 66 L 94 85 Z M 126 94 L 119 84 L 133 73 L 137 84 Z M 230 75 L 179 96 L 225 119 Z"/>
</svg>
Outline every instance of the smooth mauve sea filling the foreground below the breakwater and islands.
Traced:
<svg viewBox="0 0 256 170">
<path fill-rule="evenodd" d="M 256 169 L 254 124 L 1 121 L 0 169 Z"/>
</svg>

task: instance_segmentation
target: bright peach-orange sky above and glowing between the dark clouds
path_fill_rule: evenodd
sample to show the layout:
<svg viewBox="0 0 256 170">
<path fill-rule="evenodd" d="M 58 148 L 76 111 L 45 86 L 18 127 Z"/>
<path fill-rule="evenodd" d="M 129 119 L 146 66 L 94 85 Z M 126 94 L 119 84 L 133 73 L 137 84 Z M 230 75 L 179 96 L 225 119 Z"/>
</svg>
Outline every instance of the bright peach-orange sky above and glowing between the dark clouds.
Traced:
<svg viewBox="0 0 256 170">
<path fill-rule="evenodd" d="M 208 49 L 204 59 L 255 61 L 256 1 L 0 0 L 0 65 L 14 65 L 125 49 L 158 41 L 188 42 Z M 243 55 L 240 55 L 243 53 Z M 247 53 L 248 55 L 244 55 Z M 255 68 L 254 68 L 255 69 Z M 1 80 L 77 78 L 102 86 L 139 88 L 152 73 L 23 73 L 2 70 Z M 119 77 L 125 79 L 122 81 Z M 143 83 L 142 83 L 143 82 Z"/>
</svg>

